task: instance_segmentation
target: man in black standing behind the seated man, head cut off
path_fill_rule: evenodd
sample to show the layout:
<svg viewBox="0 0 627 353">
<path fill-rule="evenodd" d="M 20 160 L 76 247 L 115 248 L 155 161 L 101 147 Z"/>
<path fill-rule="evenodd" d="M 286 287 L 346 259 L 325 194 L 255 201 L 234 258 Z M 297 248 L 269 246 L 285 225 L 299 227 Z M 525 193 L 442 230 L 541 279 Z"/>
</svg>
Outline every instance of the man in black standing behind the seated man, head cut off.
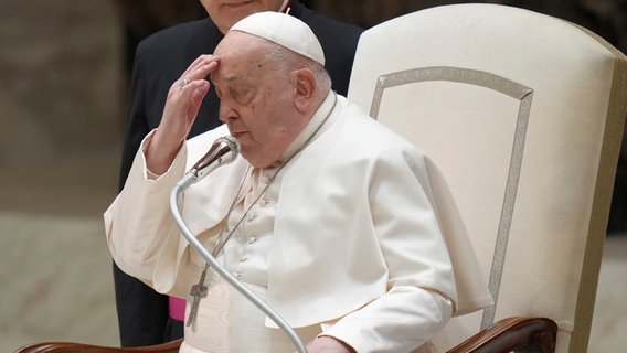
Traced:
<svg viewBox="0 0 627 353">
<path fill-rule="evenodd" d="M 307 23 L 327 53 L 326 68 L 332 88 L 346 95 L 354 51 L 362 28 L 329 19 L 298 0 L 201 0 L 209 18 L 174 25 L 141 41 L 136 50 L 128 122 L 124 138 L 119 189 L 146 135 L 156 128 L 171 83 L 201 54 L 213 53 L 224 33 L 238 20 L 262 11 L 281 11 Z M 213 87 L 202 103 L 189 138 L 221 125 L 219 98 Z M 183 323 L 170 317 L 170 300 L 114 264 L 114 282 L 120 344 L 141 346 L 182 336 Z M 180 319 L 180 318 L 178 318 Z"/>
</svg>

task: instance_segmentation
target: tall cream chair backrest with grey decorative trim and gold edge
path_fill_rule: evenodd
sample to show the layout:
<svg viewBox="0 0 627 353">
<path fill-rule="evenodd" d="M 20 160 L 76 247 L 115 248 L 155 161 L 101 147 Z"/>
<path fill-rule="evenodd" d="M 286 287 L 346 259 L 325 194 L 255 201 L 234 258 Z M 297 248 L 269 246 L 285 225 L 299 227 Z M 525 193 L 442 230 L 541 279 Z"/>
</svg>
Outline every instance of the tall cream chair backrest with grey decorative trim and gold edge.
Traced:
<svg viewBox="0 0 627 353">
<path fill-rule="evenodd" d="M 627 61 L 570 22 L 497 4 L 410 13 L 361 36 L 349 98 L 440 167 L 495 306 L 455 318 L 446 350 L 507 317 L 559 324 L 585 352 Z"/>
</svg>

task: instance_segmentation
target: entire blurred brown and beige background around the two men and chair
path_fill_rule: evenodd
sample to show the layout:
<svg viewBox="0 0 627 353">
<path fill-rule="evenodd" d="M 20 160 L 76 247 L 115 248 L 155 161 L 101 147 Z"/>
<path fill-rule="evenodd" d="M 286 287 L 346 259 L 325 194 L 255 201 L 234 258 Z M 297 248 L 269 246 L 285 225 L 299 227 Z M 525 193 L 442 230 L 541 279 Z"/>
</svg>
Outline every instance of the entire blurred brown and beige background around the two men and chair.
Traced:
<svg viewBox="0 0 627 353">
<path fill-rule="evenodd" d="M 464 1 L 302 2 L 369 28 Z M 564 18 L 627 52 L 625 0 L 483 2 Z M 117 192 L 132 53 L 150 33 L 204 15 L 195 0 L 0 1 L 2 352 L 51 340 L 118 345 L 102 213 Z M 627 346 L 626 145 L 589 352 Z"/>
</svg>

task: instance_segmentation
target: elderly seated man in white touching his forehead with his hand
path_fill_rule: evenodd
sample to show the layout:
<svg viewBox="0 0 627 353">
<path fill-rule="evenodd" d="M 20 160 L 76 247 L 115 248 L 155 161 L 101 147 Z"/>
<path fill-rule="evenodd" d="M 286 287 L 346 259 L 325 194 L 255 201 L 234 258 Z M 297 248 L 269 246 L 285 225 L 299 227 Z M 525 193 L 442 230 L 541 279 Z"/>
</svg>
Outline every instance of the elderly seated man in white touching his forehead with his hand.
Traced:
<svg viewBox="0 0 627 353">
<path fill-rule="evenodd" d="M 227 133 L 242 157 L 187 190 L 183 217 L 309 352 L 411 352 L 467 309 L 435 206 L 450 204 L 435 167 L 332 92 L 323 65 L 320 43 L 297 19 L 262 12 L 234 24 L 171 86 L 159 128 L 105 214 L 123 270 L 177 296 L 204 279 L 209 293 L 188 310 L 181 352 L 294 351 L 170 216 L 173 184 Z M 224 126 L 185 140 L 208 75 Z M 489 300 L 474 295 L 475 307 Z"/>
</svg>

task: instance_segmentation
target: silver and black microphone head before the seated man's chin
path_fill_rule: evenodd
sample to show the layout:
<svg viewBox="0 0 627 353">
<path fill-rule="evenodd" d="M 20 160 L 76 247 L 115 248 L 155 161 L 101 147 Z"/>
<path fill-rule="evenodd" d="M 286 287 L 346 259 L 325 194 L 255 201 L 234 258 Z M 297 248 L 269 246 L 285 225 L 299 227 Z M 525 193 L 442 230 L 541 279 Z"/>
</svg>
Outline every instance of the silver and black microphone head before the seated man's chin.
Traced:
<svg viewBox="0 0 627 353">
<path fill-rule="evenodd" d="M 240 141 L 233 136 L 224 136 L 213 142 L 209 151 L 188 171 L 194 175 L 194 183 L 216 168 L 231 163 L 240 154 Z"/>
</svg>

